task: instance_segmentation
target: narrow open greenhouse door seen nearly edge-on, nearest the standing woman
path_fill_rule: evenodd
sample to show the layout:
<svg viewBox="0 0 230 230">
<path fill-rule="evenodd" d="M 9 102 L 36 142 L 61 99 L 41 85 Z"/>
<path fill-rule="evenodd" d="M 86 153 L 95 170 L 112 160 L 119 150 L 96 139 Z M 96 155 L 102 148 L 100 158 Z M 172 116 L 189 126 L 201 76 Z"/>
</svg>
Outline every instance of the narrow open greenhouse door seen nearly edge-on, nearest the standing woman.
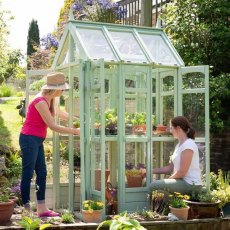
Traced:
<svg viewBox="0 0 230 230">
<path fill-rule="evenodd" d="M 104 61 L 85 62 L 81 81 L 84 114 L 84 169 L 82 168 L 81 197 L 105 202 L 105 81 Z M 100 124 L 100 135 L 95 126 Z M 82 152 L 82 151 L 81 151 Z M 82 162 L 83 163 L 83 162 Z M 82 183 L 83 182 L 83 183 Z"/>
</svg>

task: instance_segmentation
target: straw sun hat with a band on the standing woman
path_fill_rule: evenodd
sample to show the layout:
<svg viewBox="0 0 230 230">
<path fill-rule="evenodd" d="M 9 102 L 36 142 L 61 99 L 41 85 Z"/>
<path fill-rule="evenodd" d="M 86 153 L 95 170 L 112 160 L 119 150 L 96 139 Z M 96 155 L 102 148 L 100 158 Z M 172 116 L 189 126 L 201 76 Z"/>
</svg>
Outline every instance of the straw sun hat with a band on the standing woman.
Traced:
<svg viewBox="0 0 230 230">
<path fill-rule="evenodd" d="M 65 82 L 65 75 L 60 72 L 49 73 L 46 75 L 46 84 L 42 89 L 67 90 L 70 86 Z"/>
</svg>

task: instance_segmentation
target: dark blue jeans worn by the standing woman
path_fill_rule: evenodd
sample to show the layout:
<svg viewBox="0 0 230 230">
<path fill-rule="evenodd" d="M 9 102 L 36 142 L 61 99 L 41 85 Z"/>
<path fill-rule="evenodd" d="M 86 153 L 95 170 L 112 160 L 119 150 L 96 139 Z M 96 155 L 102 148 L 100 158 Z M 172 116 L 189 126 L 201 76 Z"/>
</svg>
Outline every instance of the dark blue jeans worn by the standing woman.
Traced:
<svg viewBox="0 0 230 230">
<path fill-rule="evenodd" d="M 24 205 L 30 202 L 30 184 L 33 173 L 36 173 L 37 202 L 45 202 L 46 163 L 44 154 L 44 138 L 20 134 L 19 145 L 22 152 L 21 196 Z"/>
</svg>

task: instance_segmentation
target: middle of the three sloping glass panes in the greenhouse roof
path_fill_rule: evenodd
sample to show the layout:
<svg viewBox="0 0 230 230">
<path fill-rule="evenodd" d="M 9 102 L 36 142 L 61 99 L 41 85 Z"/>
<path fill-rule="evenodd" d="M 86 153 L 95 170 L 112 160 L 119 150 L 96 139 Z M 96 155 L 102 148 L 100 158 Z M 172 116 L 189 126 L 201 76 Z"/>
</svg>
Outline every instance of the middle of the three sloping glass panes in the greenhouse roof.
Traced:
<svg viewBox="0 0 230 230">
<path fill-rule="evenodd" d="M 109 31 L 113 43 L 119 50 L 122 60 L 129 62 L 148 62 L 141 47 L 130 32 Z"/>
</svg>

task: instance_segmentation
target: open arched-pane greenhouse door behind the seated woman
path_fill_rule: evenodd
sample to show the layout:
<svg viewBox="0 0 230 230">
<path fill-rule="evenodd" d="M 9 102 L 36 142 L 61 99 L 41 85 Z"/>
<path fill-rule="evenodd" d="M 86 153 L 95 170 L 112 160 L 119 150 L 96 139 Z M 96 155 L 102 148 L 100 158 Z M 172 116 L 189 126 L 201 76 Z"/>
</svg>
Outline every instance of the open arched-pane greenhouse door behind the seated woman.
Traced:
<svg viewBox="0 0 230 230">
<path fill-rule="evenodd" d="M 196 131 L 203 174 L 210 172 L 209 66 L 181 67 L 178 78 L 178 115 L 186 116 Z M 209 178 L 206 178 L 209 186 Z"/>
</svg>

